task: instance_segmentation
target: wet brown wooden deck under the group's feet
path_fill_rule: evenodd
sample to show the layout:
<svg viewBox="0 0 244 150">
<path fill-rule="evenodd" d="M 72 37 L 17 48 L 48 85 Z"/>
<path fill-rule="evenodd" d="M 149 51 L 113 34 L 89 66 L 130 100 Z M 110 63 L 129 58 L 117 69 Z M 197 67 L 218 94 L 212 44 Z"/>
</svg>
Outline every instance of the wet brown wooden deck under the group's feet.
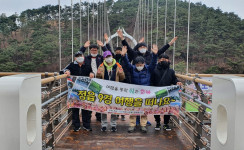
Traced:
<svg viewBox="0 0 244 150">
<path fill-rule="evenodd" d="M 101 132 L 100 122 L 92 117 L 92 132 L 80 130 L 73 132 L 72 128 L 58 142 L 55 150 L 191 150 L 192 145 L 177 128 L 171 131 L 155 131 L 155 121 L 152 115 L 148 120 L 147 133 L 141 133 L 139 127 L 135 133 L 128 133 L 129 118 L 118 120 L 117 132 Z M 108 117 L 110 118 L 110 117 Z"/>
</svg>

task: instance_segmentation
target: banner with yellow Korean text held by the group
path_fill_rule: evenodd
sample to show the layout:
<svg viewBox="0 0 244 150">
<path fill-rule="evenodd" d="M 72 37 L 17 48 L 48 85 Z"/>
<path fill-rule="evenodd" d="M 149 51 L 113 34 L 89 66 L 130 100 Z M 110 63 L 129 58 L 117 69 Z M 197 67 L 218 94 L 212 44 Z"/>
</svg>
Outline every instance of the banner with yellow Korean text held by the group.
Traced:
<svg viewBox="0 0 244 150">
<path fill-rule="evenodd" d="M 71 76 L 68 108 L 121 115 L 179 115 L 179 86 L 153 87 Z"/>
</svg>

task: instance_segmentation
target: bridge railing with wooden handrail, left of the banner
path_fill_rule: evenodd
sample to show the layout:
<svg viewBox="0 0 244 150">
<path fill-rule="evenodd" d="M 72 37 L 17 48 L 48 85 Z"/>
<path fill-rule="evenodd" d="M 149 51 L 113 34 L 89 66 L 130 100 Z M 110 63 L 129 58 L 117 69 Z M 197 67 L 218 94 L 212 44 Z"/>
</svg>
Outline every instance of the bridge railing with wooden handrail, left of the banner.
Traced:
<svg viewBox="0 0 244 150">
<path fill-rule="evenodd" d="M 46 150 L 54 149 L 72 124 L 72 112 L 66 105 L 68 94 L 66 77 L 57 75 L 41 80 L 42 146 Z"/>
</svg>

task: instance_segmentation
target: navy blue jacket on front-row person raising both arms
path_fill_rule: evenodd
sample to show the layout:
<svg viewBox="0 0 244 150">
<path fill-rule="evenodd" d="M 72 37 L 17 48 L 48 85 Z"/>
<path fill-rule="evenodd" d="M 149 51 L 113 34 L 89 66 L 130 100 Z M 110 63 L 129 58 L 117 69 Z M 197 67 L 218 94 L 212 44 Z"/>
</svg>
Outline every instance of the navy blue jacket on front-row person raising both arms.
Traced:
<svg viewBox="0 0 244 150">
<path fill-rule="evenodd" d="M 125 62 L 125 67 L 130 71 L 131 74 L 131 83 L 137 85 L 150 85 L 151 73 L 153 72 L 154 68 L 157 64 L 157 55 L 152 54 L 152 61 L 150 65 L 145 65 L 145 67 L 138 71 L 135 65 L 132 65 L 129 62 L 129 59 L 126 56 L 122 57 Z"/>
</svg>

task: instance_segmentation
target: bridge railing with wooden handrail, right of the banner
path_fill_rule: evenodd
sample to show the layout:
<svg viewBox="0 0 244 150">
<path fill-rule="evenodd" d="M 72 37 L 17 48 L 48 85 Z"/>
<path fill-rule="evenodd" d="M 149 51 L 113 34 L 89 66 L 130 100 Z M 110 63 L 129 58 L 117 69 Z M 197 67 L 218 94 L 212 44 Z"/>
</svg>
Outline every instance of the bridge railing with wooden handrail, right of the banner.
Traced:
<svg viewBox="0 0 244 150">
<path fill-rule="evenodd" d="M 193 145 L 194 149 L 210 149 L 212 95 L 202 90 L 201 85 L 212 87 L 212 82 L 195 75 L 176 75 L 182 83 L 179 121 L 171 121 Z M 189 132 L 190 131 L 190 132 Z"/>
</svg>

